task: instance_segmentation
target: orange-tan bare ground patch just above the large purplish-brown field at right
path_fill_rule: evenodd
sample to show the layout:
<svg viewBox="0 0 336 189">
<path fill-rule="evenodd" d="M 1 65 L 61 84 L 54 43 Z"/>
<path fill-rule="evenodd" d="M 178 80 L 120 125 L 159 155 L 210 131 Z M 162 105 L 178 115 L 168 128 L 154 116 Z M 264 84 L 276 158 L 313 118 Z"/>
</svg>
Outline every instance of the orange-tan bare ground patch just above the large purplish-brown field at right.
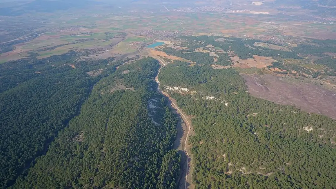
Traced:
<svg viewBox="0 0 336 189">
<path fill-rule="evenodd" d="M 234 57 L 231 57 L 231 60 L 233 62 L 233 67 L 241 67 L 241 68 L 250 68 L 250 67 L 256 67 L 256 68 L 264 68 L 268 65 L 272 65 L 272 62 L 277 62 L 277 60 L 274 60 L 270 57 L 265 56 L 257 56 L 253 55 L 253 58 L 248 58 L 246 60 L 240 59 L 237 55 Z"/>
</svg>

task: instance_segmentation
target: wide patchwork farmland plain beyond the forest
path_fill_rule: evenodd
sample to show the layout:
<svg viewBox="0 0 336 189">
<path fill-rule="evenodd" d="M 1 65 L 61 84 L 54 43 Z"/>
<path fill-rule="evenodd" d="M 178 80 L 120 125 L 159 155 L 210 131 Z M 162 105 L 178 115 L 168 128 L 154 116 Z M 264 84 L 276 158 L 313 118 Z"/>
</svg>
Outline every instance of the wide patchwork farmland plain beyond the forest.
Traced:
<svg viewBox="0 0 336 189">
<path fill-rule="evenodd" d="M 172 40 L 179 35 L 223 35 L 271 40 L 280 44 L 286 42 L 295 44 L 301 38 L 333 39 L 336 34 L 336 25 L 278 19 L 271 16 L 217 12 L 159 11 L 112 14 L 102 11 L 100 14 L 92 14 L 91 16 L 90 14 L 85 16 L 81 14 L 45 15 L 42 19 L 50 20 L 48 23 L 44 23 L 43 34 L 35 36 L 32 40 L 13 44 L 12 51 L 0 54 L 0 62 L 27 57 L 27 52 L 35 52 L 39 54 L 37 57 L 43 58 L 70 50 L 112 50 L 112 46 L 116 46 L 115 52 L 131 53 L 135 52 L 137 48 L 135 46 L 129 47 L 128 42 L 136 42 L 132 41 L 136 38 L 139 40 L 140 38 L 143 40 L 146 38 Z M 38 30 L 41 29 L 35 29 L 35 31 Z M 109 41 L 121 33 L 127 36 L 121 37 L 122 43 L 117 45 L 114 40 Z M 292 36 L 292 38 L 284 36 Z M 139 40 L 137 42 L 142 41 Z M 150 43 L 152 41 L 144 40 L 142 42 Z M 110 47 L 108 47 L 109 45 Z M 274 49 L 277 46 L 272 44 L 268 45 L 268 48 Z M 286 48 L 283 47 L 282 50 Z"/>
</svg>

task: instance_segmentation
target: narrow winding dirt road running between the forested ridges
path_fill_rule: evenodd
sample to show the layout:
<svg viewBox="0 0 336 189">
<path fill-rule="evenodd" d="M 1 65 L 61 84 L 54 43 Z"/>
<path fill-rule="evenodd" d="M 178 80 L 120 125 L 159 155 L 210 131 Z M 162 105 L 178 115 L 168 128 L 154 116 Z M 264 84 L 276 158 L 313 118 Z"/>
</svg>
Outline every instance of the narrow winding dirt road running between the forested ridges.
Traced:
<svg viewBox="0 0 336 189">
<path fill-rule="evenodd" d="M 155 77 L 155 81 L 156 81 L 156 83 L 158 83 L 158 91 L 161 94 L 163 94 L 166 97 L 168 97 L 169 99 L 171 99 L 171 97 L 167 93 L 165 93 L 165 92 L 163 92 L 163 91 L 160 90 L 159 74 L 160 74 L 161 68 L 163 68 L 164 66 L 166 66 L 166 63 L 163 60 L 161 60 L 159 57 L 153 57 L 153 58 L 157 59 L 162 64 L 162 66 L 159 68 L 158 75 Z M 181 115 L 182 120 L 184 121 L 184 123 L 188 127 L 188 132 L 186 134 L 186 137 L 185 137 L 185 140 L 184 140 L 184 145 L 183 145 L 184 151 L 185 151 L 185 154 L 186 154 L 186 163 L 185 163 L 186 164 L 186 169 L 185 169 L 186 171 L 185 171 L 185 185 L 184 185 L 184 189 L 186 189 L 187 188 L 187 179 L 188 179 L 189 158 L 190 158 L 188 150 L 187 150 L 187 142 L 188 142 L 188 138 L 189 138 L 190 131 L 191 131 L 191 125 L 188 122 L 188 119 L 186 118 L 186 116 L 184 115 L 184 113 L 180 110 L 180 108 L 178 108 L 178 106 L 172 100 L 170 100 L 170 101 L 171 101 L 172 107 L 177 110 L 177 112 Z"/>
</svg>

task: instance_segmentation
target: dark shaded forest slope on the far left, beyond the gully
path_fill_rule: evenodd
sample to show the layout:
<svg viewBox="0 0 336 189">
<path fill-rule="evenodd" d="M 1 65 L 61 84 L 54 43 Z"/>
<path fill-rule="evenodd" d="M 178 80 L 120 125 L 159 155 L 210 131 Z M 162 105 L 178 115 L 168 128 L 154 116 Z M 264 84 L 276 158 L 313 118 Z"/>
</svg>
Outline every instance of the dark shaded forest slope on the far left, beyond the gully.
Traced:
<svg viewBox="0 0 336 189">
<path fill-rule="evenodd" d="M 0 64 L 0 188 L 25 174 L 79 113 L 92 86 L 126 61 L 109 58 L 70 65 L 75 58 L 70 52 Z M 105 72 L 97 77 L 87 74 L 101 68 Z"/>
</svg>

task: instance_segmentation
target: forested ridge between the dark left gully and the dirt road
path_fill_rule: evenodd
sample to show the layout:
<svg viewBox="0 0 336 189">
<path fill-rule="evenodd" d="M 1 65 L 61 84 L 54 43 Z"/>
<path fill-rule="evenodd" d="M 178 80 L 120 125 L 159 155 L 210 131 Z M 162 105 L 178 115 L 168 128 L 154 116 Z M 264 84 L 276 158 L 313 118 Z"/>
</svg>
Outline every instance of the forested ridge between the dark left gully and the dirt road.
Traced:
<svg viewBox="0 0 336 189">
<path fill-rule="evenodd" d="M 80 114 L 10 188 L 176 188 L 177 118 L 156 90 L 158 69 L 143 58 L 100 79 Z"/>
</svg>

